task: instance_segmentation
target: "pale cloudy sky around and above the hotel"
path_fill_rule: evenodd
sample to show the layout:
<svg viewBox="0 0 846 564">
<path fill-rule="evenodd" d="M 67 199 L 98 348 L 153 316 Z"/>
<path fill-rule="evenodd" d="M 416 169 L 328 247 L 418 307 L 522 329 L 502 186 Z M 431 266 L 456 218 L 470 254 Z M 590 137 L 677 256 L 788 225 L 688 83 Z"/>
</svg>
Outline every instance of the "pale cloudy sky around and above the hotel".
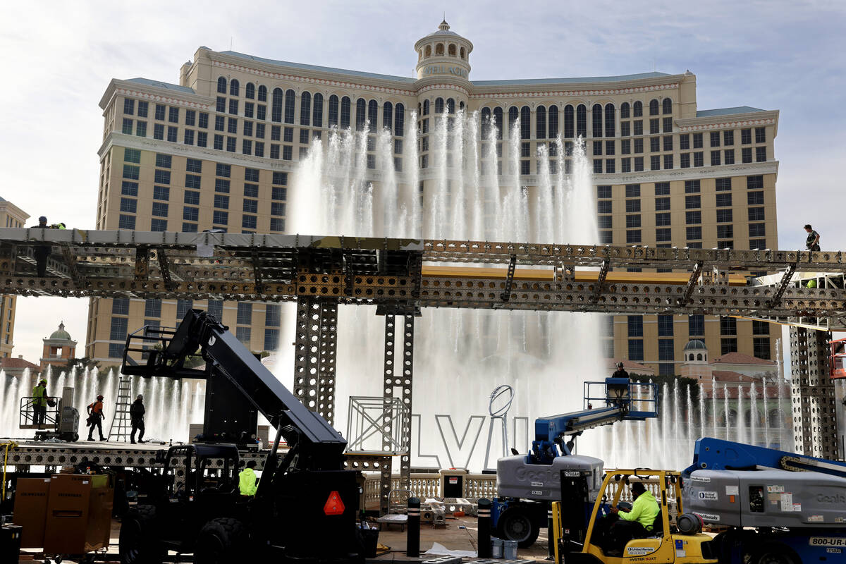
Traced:
<svg viewBox="0 0 846 564">
<path fill-rule="evenodd" d="M 470 79 L 690 70 L 700 110 L 779 110 L 779 247 L 804 248 L 810 222 L 823 249 L 846 248 L 846 3 L 828 1 L 4 3 L 0 196 L 30 224 L 94 227 L 110 79 L 179 83 L 200 46 L 411 76 L 415 41 L 444 11 L 474 44 Z M 37 362 L 62 320 L 83 355 L 88 300 L 18 304 L 15 355 Z"/>
</svg>

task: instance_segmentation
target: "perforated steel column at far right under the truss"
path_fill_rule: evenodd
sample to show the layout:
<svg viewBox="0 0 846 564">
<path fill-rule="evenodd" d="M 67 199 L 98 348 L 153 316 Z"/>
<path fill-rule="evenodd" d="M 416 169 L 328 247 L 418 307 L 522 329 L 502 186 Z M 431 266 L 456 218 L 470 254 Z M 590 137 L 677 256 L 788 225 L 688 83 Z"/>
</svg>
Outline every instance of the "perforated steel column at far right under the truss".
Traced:
<svg viewBox="0 0 846 564">
<path fill-rule="evenodd" d="M 828 371 L 832 334 L 790 327 L 790 368 L 796 452 L 836 459 L 838 420 Z"/>
</svg>

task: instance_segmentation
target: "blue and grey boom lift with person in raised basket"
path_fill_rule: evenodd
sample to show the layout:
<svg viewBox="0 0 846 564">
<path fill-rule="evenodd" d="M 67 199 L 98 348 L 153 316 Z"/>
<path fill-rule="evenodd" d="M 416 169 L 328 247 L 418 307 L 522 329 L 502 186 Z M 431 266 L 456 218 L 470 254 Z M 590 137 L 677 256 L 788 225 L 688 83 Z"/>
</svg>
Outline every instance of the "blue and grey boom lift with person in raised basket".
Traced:
<svg viewBox="0 0 846 564">
<path fill-rule="evenodd" d="M 596 395 L 596 388 L 602 390 L 601 395 Z M 497 460 L 497 499 L 491 516 L 499 537 L 516 540 L 523 548 L 535 542 L 540 529 L 547 527 L 550 502 L 561 495 L 562 470 L 591 474 L 588 501 L 595 500 L 602 483 L 602 460 L 573 454 L 575 437 L 618 421 L 656 418 L 658 399 L 656 384 L 606 378 L 585 382 L 580 411 L 536 419 L 530 452 L 519 455 L 513 451 L 514 456 Z M 599 402 L 604 406 L 598 407 Z M 566 435 L 571 435 L 569 441 L 565 441 Z"/>
</svg>

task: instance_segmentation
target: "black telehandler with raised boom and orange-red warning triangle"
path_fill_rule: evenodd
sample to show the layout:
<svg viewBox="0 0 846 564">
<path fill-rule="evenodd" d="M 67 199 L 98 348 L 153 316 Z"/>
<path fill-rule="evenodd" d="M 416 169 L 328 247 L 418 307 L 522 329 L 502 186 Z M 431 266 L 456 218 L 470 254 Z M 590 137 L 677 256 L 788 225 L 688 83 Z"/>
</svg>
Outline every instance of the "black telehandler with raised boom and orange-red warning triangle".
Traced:
<svg viewBox="0 0 846 564">
<path fill-rule="evenodd" d="M 149 348 L 151 340 L 161 350 Z M 198 349 L 205 367 L 185 368 L 185 359 Z M 136 352 L 145 353 L 143 364 L 131 359 Z M 288 392 L 226 326 L 191 309 L 175 331 L 136 331 L 127 339 L 122 370 L 206 379 L 204 435 L 237 437 L 250 421 L 255 432 L 250 410 L 277 429 L 252 498 L 239 495 L 234 445 L 171 448 L 167 466 L 184 465 L 185 486 L 170 484 L 153 504 L 129 510 L 120 533 L 123 564 L 161 562 L 167 550 L 194 553 L 198 564 L 364 561 L 355 523 L 357 473 L 343 469 L 347 441 Z M 279 460 L 282 439 L 288 452 Z M 212 458 L 224 461 L 222 472 L 209 472 L 206 461 Z"/>
</svg>

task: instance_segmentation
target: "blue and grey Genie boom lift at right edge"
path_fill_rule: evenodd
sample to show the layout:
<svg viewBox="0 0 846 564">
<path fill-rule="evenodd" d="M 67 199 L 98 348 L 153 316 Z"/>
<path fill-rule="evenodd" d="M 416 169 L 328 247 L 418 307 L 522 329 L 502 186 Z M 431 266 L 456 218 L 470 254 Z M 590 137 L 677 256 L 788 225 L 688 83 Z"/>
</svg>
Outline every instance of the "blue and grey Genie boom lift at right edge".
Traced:
<svg viewBox="0 0 846 564">
<path fill-rule="evenodd" d="M 728 527 L 721 562 L 846 561 L 846 463 L 702 438 L 682 476 L 688 509 Z"/>
</svg>

